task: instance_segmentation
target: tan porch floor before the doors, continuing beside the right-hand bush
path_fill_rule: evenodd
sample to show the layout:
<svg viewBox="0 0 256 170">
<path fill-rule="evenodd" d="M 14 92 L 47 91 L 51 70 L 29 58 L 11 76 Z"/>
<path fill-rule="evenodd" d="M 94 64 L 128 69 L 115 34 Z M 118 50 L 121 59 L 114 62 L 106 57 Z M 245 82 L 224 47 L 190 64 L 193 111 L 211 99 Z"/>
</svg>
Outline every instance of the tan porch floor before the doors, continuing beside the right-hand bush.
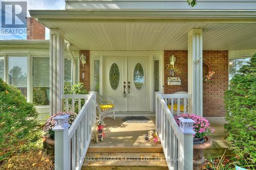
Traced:
<svg viewBox="0 0 256 170">
<path fill-rule="evenodd" d="M 146 116 L 147 117 L 147 116 Z M 144 137 L 150 131 L 155 131 L 155 117 L 148 117 L 150 121 L 147 123 L 125 123 L 122 121 L 123 117 L 106 117 L 105 123 L 105 138 L 104 141 L 95 143 L 93 140 L 90 147 L 152 147 Z M 226 150 L 226 154 L 230 154 L 228 144 L 225 140 L 227 133 L 224 132 L 224 124 L 226 123 L 225 117 L 205 117 L 209 120 L 210 125 L 215 129 L 211 134 L 213 145 L 205 152 L 205 157 L 208 156 L 221 156 Z M 155 147 L 160 147 L 158 142 Z"/>
</svg>

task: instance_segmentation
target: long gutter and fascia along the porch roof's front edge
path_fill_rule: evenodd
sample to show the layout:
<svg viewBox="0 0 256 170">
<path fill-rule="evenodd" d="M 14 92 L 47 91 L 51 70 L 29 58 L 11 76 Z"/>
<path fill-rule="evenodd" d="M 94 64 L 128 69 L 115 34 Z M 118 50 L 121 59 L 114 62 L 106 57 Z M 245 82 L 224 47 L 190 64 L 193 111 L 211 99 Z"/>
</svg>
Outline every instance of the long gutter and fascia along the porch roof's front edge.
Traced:
<svg viewBox="0 0 256 170">
<path fill-rule="evenodd" d="M 29 10 L 40 19 L 163 19 L 256 22 L 256 10 Z"/>
</svg>

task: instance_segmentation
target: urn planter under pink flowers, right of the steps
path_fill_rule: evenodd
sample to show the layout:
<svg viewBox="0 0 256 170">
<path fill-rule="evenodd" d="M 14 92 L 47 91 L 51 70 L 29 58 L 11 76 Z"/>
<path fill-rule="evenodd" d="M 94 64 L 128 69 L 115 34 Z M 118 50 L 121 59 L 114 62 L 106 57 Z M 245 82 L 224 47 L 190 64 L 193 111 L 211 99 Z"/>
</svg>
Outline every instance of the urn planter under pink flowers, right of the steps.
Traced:
<svg viewBox="0 0 256 170">
<path fill-rule="evenodd" d="M 205 137 L 205 142 L 202 144 L 193 144 L 193 169 L 199 170 L 200 166 L 204 164 L 204 150 L 212 145 L 210 137 Z"/>
</svg>

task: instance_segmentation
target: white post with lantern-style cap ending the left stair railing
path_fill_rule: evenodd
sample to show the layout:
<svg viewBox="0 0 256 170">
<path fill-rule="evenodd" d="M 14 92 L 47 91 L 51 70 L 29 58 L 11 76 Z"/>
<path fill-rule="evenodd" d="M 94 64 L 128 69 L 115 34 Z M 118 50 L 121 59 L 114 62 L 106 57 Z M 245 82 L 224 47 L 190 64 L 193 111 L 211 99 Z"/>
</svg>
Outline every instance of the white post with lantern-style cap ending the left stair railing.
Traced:
<svg viewBox="0 0 256 170">
<path fill-rule="evenodd" d="M 55 170 L 70 169 L 70 142 L 69 142 L 69 115 L 58 115 L 53 118 L 55 126 L 54 132 L 54 162 Z"/>
</svg>

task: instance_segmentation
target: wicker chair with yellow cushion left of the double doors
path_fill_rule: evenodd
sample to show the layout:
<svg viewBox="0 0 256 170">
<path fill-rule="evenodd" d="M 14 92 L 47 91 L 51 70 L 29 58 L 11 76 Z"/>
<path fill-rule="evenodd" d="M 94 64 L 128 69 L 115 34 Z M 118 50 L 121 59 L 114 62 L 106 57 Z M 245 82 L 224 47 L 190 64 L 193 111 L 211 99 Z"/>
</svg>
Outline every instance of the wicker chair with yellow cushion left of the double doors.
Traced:
<svg viewBox="0 0 256 170">
<path fill-rule="evenodd" d="M 115 120 L 115 104 L 113 100 L 104 100 L 103 96 L 97 93 L 97 104 L 96 104 L 99 119 L 103 120 L 107 115 L 113 115 Z"/>
</svg>

